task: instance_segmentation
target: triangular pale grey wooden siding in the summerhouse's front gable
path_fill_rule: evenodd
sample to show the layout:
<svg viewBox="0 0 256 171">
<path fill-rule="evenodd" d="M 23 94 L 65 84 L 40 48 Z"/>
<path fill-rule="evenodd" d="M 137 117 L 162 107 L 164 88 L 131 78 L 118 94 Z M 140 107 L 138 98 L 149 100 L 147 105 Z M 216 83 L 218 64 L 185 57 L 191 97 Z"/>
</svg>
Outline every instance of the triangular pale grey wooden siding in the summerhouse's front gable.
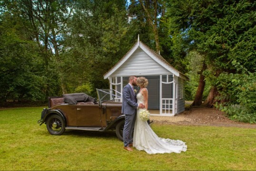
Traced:
<svg viewBox="0 0 256 171">
<path fill-rule="evenodd" d="M 154 76 L 171 74 L 170 71 L 159 65 L 155 60 L 148 56 L 140 47 L 120 66 L 112 76 Z"/>
</svg>

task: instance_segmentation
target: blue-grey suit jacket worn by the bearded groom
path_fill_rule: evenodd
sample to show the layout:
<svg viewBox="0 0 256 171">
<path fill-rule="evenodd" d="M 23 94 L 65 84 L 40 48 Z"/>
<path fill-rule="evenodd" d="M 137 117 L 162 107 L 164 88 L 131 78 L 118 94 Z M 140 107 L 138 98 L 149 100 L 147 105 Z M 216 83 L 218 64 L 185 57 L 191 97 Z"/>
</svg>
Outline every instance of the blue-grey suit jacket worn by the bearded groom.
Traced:
<svg viewBox="0 0 256 171">
<path fill-rule="evenodd" d="M 136 114 L 137 112 L 137 98 L 136 95 L 128 84 L 123 89 L 123 102 L 122 102 L 122 114 Z"/>
</svg>

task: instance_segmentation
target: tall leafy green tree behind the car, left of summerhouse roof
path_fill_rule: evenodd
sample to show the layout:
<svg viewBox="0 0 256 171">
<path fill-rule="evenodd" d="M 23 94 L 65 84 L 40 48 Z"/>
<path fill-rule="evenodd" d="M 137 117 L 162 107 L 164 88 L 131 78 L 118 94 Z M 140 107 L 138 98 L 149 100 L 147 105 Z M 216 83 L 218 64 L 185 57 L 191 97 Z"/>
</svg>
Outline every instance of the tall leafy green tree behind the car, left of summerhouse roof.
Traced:
<svg viewBox="0 0 256 171">
<path fill-rule="evenodd" d="M 108 87 L 103 75 L 125 55 L 133 41 L 133 36 L 128 34 L 125 5 L 126 1 L 120 0 L 76 2 L 65 46 L 65 54 L 69 56 L 67 65 L 72 64 L 69 65 L 71 77 L 67 78 L 70 83 L 76 78 L 71 83 L 73 87 L 93 90 Z"/>
</svg>

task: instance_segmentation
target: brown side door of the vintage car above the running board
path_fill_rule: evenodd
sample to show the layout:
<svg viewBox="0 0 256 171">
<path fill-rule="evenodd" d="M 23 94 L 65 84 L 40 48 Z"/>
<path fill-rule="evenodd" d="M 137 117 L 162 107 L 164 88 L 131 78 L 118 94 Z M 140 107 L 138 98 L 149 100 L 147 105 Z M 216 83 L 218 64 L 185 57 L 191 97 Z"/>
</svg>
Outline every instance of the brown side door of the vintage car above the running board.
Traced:
<svg viewBox="0 0 256 171">
<path fill-rule="evenodd" d="M 101 127 L 100 110 L 97 104 L 77 105 L 77 126 Z"/>
</svg>

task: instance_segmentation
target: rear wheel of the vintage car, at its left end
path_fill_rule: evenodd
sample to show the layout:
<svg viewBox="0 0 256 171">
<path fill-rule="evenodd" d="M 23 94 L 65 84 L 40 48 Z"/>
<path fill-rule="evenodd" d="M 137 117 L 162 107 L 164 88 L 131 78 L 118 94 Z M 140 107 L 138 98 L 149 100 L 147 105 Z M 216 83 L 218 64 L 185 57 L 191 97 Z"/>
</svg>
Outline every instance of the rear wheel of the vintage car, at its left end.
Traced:
<svg viewBox="0 0 256 171">
<path fill-rule="evenodd" d="M 61 135 L 65 132 L 65 121 L 60 115 L 53 114 L 47 119 L 46 127 L 50 134 Z"/>
</svg>

